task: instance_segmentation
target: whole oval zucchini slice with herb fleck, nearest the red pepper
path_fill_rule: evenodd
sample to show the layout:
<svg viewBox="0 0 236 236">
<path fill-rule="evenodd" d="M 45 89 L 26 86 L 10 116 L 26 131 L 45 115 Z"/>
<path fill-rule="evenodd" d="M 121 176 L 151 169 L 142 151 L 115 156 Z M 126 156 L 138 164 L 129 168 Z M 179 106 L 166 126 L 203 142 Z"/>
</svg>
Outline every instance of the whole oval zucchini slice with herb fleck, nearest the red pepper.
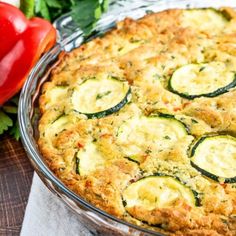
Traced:
<svg viewBox="0 0 236 236">
<path fill-rule="evenodd" d="M 127 82 L 114 77 L 90 78 L 74 89 L 73 108 L 88 118 L 100 118 L 120 110 L 129 100 Z"/>
</svg>

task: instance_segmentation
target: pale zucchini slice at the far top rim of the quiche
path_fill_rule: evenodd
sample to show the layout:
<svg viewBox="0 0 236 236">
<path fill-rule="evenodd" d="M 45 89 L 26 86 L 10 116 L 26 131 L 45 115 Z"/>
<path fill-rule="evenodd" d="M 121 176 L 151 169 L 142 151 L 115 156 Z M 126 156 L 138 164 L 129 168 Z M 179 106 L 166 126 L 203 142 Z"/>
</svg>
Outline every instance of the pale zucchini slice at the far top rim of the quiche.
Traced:
<svg viewBox="0 0 236 236">
<path fill-rule="evenodd" d="M 189 9 L 183 11 L 183 26 L 209 34 L 217 34 L 225 28 L 228 18 L 223 12 L 213 8 Z"/>
</svg>

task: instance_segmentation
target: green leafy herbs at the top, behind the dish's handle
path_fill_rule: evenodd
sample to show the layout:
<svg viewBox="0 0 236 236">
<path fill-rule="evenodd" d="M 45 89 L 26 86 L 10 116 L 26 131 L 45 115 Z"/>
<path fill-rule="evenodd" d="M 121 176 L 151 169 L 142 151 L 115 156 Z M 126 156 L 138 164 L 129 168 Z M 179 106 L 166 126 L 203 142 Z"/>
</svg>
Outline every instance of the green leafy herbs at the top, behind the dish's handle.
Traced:
<svg viewBox="0 0 236 236">
<path fill-rule="evenodd" d="M 40 16 L 51 22 L 65 12 L 89 34 L 102 13 L 107 11 L 109 0 L 21 0 L 20 8 L 27 17 Z"/>
</svg>

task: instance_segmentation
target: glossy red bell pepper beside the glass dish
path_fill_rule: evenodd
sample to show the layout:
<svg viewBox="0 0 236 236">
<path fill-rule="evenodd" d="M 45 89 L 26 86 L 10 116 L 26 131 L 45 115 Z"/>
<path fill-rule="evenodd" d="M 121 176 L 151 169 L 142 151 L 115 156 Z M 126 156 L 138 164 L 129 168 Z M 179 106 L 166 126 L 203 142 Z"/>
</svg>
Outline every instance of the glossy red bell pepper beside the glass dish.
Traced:
<svg viewBox="0 0 236 236">
<path fill-rule="evenodd" d="M 0 105 L 19 92 L 42 53 L 56 42 L 46 20 L 28 20 L 16 7 L 0 2 Z"/>
</svg>

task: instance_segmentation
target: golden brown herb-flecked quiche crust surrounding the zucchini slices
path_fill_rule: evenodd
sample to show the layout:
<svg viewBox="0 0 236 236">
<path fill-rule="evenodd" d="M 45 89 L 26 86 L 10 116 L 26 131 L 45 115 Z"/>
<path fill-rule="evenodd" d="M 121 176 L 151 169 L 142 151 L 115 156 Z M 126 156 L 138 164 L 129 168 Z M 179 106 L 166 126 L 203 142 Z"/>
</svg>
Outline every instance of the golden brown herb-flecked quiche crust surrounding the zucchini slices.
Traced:
<svg viewBox="0 0 236 236">
<path fill-rule="evenodd" d="M 61 56 L 42 89 L 38 144 L 49 167 L 69 188 L 116 217 L 167 235 L 236 235 L 236 185 L 202 176 L 190 165 L 187 153 L 193 140 L 204 134 L 236 135 L 236 91 L 188 100 L 168 90 L 169 77 L 182 65 L 217 60 L 236 68 L 236 13 L 231 8 L 224 8 L 224 13 L 231 20 L 215 30 L 191 26 L 184 10 L 154 13 L 137 21 L 127 18 L 102 38 Z M 131 103 L 100 119 L 74 112 L 73 89 L 86 78 L 103 75 L 127 80 Z M 130 117 L 153 113 L 174 115 L 191 135 L 163 152 L 144 154 L 138 165 L 122 153 L 117 127 Z M 53 127 L 62 116 L 66 116 L 62 127 Z M 96 142 L 105 164 L 82 176 L 76 170 L 76 154 L 91 142 Z M 200 193 L 201 206 L 190 207 L 181 200 L 172 209 L 135 206 L 129 209 L 131 217 L 122 203 L 123 190 L 157 172 L 182 179 Z"/>
</svg>

